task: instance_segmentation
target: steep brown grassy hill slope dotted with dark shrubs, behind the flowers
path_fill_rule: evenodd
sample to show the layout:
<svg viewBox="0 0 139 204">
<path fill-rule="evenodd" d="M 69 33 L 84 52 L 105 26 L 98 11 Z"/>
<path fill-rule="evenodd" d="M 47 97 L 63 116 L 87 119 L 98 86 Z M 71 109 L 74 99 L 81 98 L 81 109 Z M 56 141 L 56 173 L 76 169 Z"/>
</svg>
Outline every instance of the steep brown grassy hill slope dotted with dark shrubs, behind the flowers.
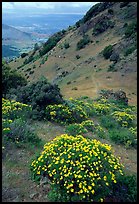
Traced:
<svg viewBox="0 0 139 204">
<path fill-rule="evenodd" d="M 46 54 L 40 55 L 40 50 L 47 44 L 10 66 L 29 82 L 45 76 L 65 97 L 95 98 L 102 89 L 122 89 L 129 103 L 136 104 L 136 21 L 136 2 L 96 4 Z M 106 59 L 103 50 L 109 45 L 112 52 Z"/>
</svg>

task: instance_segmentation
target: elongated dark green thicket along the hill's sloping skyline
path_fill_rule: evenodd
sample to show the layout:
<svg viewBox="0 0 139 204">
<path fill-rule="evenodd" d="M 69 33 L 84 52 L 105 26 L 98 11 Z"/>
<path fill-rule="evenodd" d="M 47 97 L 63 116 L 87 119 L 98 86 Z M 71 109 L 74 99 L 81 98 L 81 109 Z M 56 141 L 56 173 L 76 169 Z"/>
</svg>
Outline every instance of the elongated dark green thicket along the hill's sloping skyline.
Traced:
<svg viewBox="0 0 139 204">
<path fill-rule="evenodd" d="M 52 35 L 46 43 L 44 43 L 43 48 L 39 50 L 40 56 L 45 55 L 49 52 L 52 48 L 56 46 L 56 44 L 64 37 L 63 31 L 59 31 Z"/>
</svg>

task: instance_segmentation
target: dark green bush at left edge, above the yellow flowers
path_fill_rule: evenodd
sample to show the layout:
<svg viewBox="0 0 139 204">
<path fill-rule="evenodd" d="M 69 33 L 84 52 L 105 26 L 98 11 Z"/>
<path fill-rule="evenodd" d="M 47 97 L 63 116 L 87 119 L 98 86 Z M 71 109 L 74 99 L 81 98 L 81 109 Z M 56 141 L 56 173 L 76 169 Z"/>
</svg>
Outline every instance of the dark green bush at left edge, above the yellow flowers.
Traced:
<svg viewBox="0 0 139 204">
<path fill-rule="evenodd" d="M 24 86 L 27 84 L 26 79 L 17 73 L 16 70 L 12 70 L 7 64 L 2 65 L 2 95 L 5 96 L 10 89 L 18 88 L 18 86 Z"/>
</svg>

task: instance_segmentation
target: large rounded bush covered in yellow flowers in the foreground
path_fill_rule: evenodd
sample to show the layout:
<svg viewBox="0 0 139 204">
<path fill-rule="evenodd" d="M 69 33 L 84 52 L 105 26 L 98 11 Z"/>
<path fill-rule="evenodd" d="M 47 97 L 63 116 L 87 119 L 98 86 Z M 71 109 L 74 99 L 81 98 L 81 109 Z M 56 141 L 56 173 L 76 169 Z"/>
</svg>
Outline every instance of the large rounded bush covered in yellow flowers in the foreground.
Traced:
<svg viewBox="0 0 139 204">
<path fill-rule="evenodd" d="M 34 178 L 45 172 L 67 194 L 75 194 L 81 200 L 95 200 L 97 195 L 97 201 L 103 200 L 101 189 L 109 188 L 112 182 L 117 182 L 116 175 L 123 174 L 122 167 L 110 145 L 67 134 L 45 144 L 41 155 L 31 164 Z"/>
</svg>

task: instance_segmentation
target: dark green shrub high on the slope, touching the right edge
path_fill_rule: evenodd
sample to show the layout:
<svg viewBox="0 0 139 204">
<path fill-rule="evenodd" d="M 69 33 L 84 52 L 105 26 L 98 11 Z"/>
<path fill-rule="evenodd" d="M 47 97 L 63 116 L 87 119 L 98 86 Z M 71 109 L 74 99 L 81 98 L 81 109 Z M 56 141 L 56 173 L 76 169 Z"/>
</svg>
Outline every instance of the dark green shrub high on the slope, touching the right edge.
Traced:
<svg viewBox="0 0 139 204">
<path fill-rule="evenodd" d="M 135 37 L 137 32 L 137 21 L 133 21 L 125 29 L 125 37 Z"/>
</svg>

